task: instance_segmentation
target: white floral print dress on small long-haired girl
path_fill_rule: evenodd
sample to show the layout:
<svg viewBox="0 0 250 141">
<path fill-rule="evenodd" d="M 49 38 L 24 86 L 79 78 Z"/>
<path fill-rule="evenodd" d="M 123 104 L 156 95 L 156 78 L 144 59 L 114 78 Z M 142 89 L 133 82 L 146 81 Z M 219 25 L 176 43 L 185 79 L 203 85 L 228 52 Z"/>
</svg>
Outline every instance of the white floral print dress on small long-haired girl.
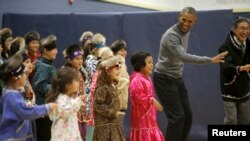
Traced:
<svg viewBox="0 0 250 141">
<path fill-rule="evenodd" d="M 51 141 L 82 141 L 77 112 L 84 104 L 83 101 L 79 97 L 74 99 L 66 94 L 59 94 L 56 103 L 57 111 L 49 115 L 53 121 Z"/>
</svg>

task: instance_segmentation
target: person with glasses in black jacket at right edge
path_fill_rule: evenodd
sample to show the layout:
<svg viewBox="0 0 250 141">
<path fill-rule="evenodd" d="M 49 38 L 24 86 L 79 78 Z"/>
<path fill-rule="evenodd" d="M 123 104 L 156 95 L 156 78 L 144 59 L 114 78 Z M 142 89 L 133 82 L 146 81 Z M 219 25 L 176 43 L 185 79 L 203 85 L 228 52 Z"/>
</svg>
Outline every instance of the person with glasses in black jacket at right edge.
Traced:
<svg viewBox="0 0 250 141">
<path fill-rule="evenodd" d="M 224 124 L 249 124 L 250 23 L 238 18 L 219 52 L 228 51 L 220 65 Z"/>
</svg>

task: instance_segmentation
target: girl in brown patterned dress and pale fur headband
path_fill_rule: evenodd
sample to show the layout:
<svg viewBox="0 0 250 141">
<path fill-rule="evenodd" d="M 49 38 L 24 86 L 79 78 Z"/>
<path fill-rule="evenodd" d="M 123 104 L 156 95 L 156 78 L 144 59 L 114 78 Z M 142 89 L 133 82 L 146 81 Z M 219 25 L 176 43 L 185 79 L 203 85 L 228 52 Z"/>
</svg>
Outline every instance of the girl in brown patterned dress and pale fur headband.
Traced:
<svg viewBox="0 0 250 141">
<path fill-rule="evenodd" d="M 126 141 L 125 132 L 119 123 L 119 94 L 116 84 L 119 77 L 121 59 L 108 58 L 100 64 L 100 74 L 94 96 L 95 128 L 93 141 Z"/>
</svg>

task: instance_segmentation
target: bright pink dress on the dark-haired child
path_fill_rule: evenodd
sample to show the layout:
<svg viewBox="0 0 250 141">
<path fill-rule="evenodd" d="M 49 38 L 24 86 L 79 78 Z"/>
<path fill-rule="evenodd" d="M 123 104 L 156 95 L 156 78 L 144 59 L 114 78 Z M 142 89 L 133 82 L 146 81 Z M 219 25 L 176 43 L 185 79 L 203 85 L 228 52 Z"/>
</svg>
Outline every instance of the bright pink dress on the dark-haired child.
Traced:
<svg viewBox="0 0 250 141">
<path fill-rule="evenodd" d="M 157 124 L 155 97 L 150 76 L 133 72 L 130 76 L 131 130 L 129 141 L 164 141 Z"/>
</svg>

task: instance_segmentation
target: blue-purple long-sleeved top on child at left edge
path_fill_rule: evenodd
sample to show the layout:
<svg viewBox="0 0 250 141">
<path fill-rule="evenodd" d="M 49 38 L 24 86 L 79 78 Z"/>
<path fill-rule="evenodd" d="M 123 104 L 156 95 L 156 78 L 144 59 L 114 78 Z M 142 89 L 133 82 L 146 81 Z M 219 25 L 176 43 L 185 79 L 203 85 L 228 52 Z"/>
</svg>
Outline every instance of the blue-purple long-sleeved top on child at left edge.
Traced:
<svg viewBox="0 0 250 141">
<path fill-rule="evenodd" d="M 5 89 L 0 100 L 0 140 L 34 141 L 31 120 L 48 111 L 48 105 L 28 106 L 20 91 Z"/>
</svg>

